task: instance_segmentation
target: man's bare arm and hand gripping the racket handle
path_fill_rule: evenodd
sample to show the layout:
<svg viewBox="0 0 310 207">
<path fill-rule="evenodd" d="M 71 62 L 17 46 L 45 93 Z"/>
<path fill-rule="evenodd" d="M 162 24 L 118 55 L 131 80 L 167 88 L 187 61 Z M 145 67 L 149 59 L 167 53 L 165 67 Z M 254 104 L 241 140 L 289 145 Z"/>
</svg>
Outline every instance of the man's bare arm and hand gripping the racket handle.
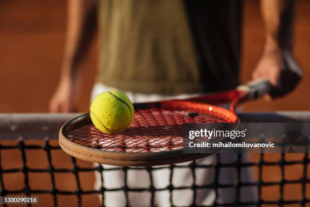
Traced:
<svg viewBox="0 0 310 207">
<path fill-rule="evenodd" d="M 302 77 L 302 71 L 292 55 L 295 6 L 294 0 L 261 0 L 265 43 L 253 78 L 266 78 L 272 83 L 275 88 L 271 97 L 292 91 Z"/>
</svg>

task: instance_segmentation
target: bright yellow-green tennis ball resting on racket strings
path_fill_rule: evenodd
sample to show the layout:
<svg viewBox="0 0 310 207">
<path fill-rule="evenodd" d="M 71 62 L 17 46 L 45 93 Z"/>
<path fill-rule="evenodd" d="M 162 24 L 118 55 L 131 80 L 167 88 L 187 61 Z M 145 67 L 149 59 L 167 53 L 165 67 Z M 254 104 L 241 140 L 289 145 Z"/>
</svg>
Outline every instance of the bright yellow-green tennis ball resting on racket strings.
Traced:
<svg viewBox="0 0 310 207">
<path fill-rule="evenodd" d="M 104 91 L 90 106 L 93 124 L 105 133 L 118 133 L 125 130 L 133 116 L 132 102 L 119 90 Z"/>
</svg>

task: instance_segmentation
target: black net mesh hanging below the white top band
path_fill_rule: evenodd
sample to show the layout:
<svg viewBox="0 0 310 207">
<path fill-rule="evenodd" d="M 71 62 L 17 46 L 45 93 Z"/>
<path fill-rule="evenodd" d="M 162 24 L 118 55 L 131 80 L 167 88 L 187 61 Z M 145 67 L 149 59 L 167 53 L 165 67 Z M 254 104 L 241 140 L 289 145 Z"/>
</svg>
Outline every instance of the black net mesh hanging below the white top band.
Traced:
<svg viewBox="0 0 310 207">
<path fill-rule="evenodd" d="M 2 140 L 0 156 L 1 196 L 39 196 L 39 205 L 42 206 L 105 206 L 113 193 L 124 197 L 125 206 L 136 206 L 131 203 L 136 195 L 148 200 L 148 206 L 160 206 L 157 198 L 162 192 L 166 195 L 163 199 L 170 206 L 310 205 L 308 154 L 251 154 L 249 159 L 237 154 L 229 162 L 222 160 L 223 155 L 216 154 L 209 158 L 209 162 L 146 168 L 106 167 L 66 155 L 57 140 L 19 139 Z M 229 169 L 234 175 L 225 174 L 227 170 L 231 172 Z M 246 169 L 252 171 L 252 179 L 245 179 Z M 168 178 L 156 176 L 160 170 L 166 170 Z M 122 175 L 121 184 L 117 186 L 112 182 L 114 187 L 107 187 L 104 176 L 117 171 Z M 133 187 L 130 184 L 133 171 L 144 171 L 145 185 Z M 186 183 L 177 183 L 175 177 L 184 171 L 188 175 Z M 98 176 L 96 187 L 95 173 Z M 198 181 L 198 175 L 204 173 L 207 182 Z M 231 179 L 222 179 L 223 176 Z M 159 178 L 167 179 L 165 185 L 157 184 Z M 204 190 L 210 197 L 207 202 L 200 198 Z M 251 190 L 255 192 L 254 196 L 244 199 L 242 194 Z M 229 199 L 223 200 L 222 195 Z M 180 197 L 186 197 L 186 203 Z"/>
</svg>

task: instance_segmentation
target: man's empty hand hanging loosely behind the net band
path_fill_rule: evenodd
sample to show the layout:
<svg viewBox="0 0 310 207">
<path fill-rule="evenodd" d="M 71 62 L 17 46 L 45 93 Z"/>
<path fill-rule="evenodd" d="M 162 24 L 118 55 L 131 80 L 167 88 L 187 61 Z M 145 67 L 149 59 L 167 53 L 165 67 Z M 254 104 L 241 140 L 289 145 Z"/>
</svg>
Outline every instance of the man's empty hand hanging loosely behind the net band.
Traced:
<svg viewBox="0 0 310 207">
<path fill-rule="evenodd" d="M 77 96 L 71 80 L 61 80 L 50 101 L 51 113 L 76 112 Z"/>
</svg>

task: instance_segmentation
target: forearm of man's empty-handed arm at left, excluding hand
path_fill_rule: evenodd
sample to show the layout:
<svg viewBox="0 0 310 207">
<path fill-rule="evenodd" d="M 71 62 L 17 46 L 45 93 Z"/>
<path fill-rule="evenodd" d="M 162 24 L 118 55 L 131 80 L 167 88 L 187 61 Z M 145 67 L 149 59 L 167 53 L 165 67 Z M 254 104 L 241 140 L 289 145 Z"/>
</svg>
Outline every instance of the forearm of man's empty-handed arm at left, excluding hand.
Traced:
<svg viewBox="0 0 310 207">
<path fill-rule="evenodd" d="M 95 2 L 68 0 L 67 34 L 62 64 L 62 78 L 78 74 L 79 63 L 90 46 L 95 27 Z"/>
</svg>

